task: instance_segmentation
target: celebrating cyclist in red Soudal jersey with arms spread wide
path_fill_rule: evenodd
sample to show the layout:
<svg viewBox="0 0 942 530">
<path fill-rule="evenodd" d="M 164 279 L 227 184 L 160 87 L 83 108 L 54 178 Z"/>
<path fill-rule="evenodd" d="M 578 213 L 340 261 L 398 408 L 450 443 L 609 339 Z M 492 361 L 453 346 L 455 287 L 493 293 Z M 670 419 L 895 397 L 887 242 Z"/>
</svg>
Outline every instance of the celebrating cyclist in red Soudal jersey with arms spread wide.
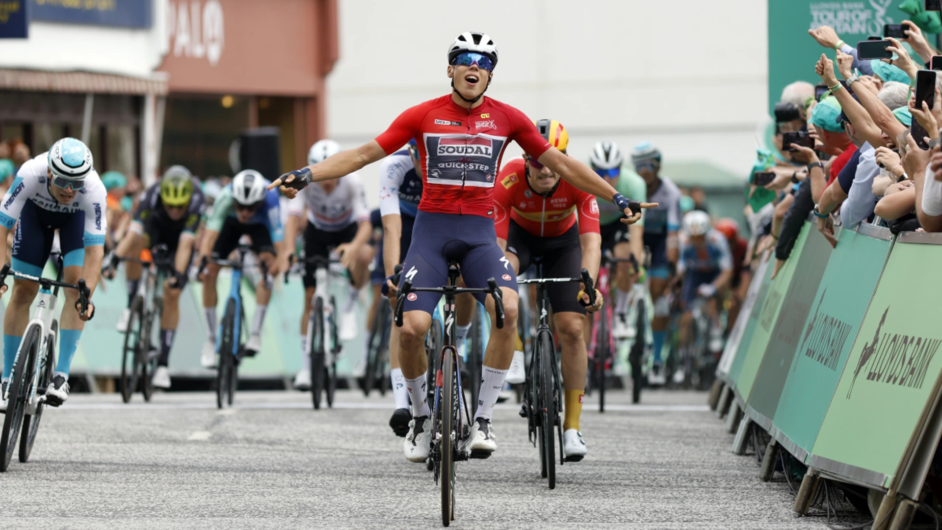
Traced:
<svg viewBox="0 0 942 530">
<path fill-rule="evenodd" d="M 448 47 L 447 58 L 450 94 L 409 108 L 375 140 L 341 151 L 316 166 L 284 174 L 270 188 L 281 186 L 286 197 L 294 198 L 310 182 L 350 174 L 395 153 L 407 141 L 416 141 L 424 186 L 402 279 L 410 278 L 414 287 L 441 287 L 447 281 L 447 261 L 454 259 L 468 287 L 486 287 L 487 278 L 494 277 L 503 294 L 505 325 L 492 328 L 484 353 L 478 409 L 468 447 L 473 454 L 486 457 L 497 447 L 491 415 L 511 364 L 516 336 L 516 279 L 497 246 L 493 219 L 495 178 L 507 144 L 516 141 L 530 157 L 580 190 L 615 203 L 625 211 L 625 224 L 641 219 L 641 208 L 655 205 L 634 203 L 632 210 L 625 196 L 588 166 L 551 147 L 522 112 L 483 97 L 497 63 L 497 48 L 490 37 L 465 32 Z M 387 285 L 390 296 L 395 296 L 396 287 L 388 281 Z M 412 294 L 409 298 L 414 299 L 405 303 L 399 333 L 399 364 L 413 403 L 413 421 L 403 449 L 409 460 L 423 462 L 429 456 L 431 431 L 425 336 L 440 296 Z M 481 301 L 494 323 L 492 299 Z"/>
</svg>

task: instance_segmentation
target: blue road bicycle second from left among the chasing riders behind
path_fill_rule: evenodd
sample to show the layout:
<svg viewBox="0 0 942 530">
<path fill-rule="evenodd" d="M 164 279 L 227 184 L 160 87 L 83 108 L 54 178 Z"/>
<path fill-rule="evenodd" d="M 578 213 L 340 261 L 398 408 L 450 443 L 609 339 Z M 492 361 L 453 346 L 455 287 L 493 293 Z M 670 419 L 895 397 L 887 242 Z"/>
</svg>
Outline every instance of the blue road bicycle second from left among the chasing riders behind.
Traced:
<svg viewBox="0 0 942 530">
<path fill-rule="evenodd" d="M 245 306 L 242 304 L 242 273 L 250 266 L 245 265 L 245 257 L 252 250 L 249 245 L 235 248 L 235 259 L 212 259 L 220 267 L 232 269 L 229 298 L 219 323 L 216 334 L 216 352 L 219 362 L 216 367 L 216 406 L 232 406 L 235 390 L 238 388 L 238 365 L 242 357 L 253 356 L 255 352 L 245 350 L 246 336 L 249 334 L 245 325 Z M 268 268 L 264 261 L 259 261 L 262 275 L 268 281 Z"/>
</svg>

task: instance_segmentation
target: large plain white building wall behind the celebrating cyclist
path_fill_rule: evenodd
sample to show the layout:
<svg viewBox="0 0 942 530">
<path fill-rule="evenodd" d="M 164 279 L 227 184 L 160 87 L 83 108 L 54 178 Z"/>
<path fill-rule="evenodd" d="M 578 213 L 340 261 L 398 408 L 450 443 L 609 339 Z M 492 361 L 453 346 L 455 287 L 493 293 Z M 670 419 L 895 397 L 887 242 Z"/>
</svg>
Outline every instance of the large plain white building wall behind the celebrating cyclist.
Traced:
<svg viewBox="0 0 942 530">
<path fill-rule="evenodd" d="M 447 47 L 473 30 L 500 52 L 487 95 L 559 120 L 575 157 L 586 159 L 594 141 L 630 149 L 648 140 L 667 160 L 743 175 L 755 157 L 755 124 L 767 114 L 763 1 L 341 0 L 339 8 L 328 130 L 344 147 L 450 91 Z M 513 144 L 505 160 L 519 153 Z M 378 166 L 363 172 L 367 190 L 377 190 Z"/>
</svg>

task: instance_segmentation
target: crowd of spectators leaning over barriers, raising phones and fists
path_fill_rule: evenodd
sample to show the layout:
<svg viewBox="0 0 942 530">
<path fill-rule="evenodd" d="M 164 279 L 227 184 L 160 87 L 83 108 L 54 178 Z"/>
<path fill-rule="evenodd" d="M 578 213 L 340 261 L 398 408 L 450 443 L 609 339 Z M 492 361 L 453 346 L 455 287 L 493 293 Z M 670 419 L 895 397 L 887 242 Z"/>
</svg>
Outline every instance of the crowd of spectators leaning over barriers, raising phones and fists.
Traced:
<svg viewBox="0 0 942 530">
<path fill-rule="evenodd" d="M 773 149 L 758 150 L 747 192 L 755 250 L 774 247 L 775 273 L 809 216 L 832 245 L 837 224 L 880 224 L 894 234 L 942 232 L 942 76 L 934 101 L 917 102 L 914 93 L 918 71 L 928 70 L 939 52 L 918 25 L 902 24 L 904 38 L 886 38 L 891 45 L 885 49 L 893 53 L 886 59 L 860 59 L 829 26 L 808 31 L 836 51 L 836 60 L 826 54 L 807 59 L 809 72 L 820 77 L 817 90 L 796 81 L 782 91 Z M 925 136 L 914 139 L 914 128 Z M 783 145 L 786 133 L 807 134 L 814 147 Z"/>
</svg>

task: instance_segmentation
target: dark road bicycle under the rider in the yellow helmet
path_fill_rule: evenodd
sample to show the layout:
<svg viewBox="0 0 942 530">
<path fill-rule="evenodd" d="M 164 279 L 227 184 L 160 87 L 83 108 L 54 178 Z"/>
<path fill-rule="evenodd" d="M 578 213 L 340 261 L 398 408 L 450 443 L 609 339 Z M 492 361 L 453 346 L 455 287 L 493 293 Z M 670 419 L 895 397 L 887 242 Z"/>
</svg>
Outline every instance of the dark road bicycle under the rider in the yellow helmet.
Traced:
<svg viewBox="0 0 942 530">
<path fill-rule="evenodd" d="M 141 265 L 138 292 L 129 307 L 131 314 L 122 347 L 121 393 L 124 403 L 131 401 L 138 383 L 144 401 L 150 402 L 154 395 L 152 377 L 157 369 L 159 353 L 154 348 L 154 331 L 159 330 L 160 315 L 164 310 L 164 280 L 171 277 L 174 261 L 166 252 L 166 246 L 157 250 L 159 257 L 150 261 L 136 257 L 121 258 Z"/>
</svg>

